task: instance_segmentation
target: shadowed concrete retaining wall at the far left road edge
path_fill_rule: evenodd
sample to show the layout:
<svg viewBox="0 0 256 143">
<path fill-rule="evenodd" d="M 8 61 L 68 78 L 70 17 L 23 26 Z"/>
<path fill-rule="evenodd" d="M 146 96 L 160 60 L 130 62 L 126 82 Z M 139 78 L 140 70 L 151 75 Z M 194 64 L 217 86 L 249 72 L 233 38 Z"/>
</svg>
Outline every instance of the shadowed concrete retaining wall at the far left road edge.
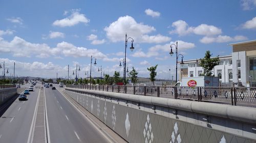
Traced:
<svg viewBox="0 0 256 143">
<path fill-rule="evenodd" d="M 17 95 L 17 88 L 0 89 L 0 105 Z"/>
</svg>

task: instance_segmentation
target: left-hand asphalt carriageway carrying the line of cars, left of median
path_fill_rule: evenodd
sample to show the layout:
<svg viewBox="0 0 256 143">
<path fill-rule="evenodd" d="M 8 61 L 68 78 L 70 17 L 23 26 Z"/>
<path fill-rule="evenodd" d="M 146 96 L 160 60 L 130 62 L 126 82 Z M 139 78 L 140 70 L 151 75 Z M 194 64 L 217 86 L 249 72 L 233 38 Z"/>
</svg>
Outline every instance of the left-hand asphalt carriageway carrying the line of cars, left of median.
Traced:
<svg viewBox="0 0 256 143">
<path fill-rule="evenodd" d="M 26 85 L 29 87 L 29 84 Z M 0 142 L 27 142 L 39 89 L 30 92 L 27 101 L 18 98 L 0 118 Z"/>
</svg>

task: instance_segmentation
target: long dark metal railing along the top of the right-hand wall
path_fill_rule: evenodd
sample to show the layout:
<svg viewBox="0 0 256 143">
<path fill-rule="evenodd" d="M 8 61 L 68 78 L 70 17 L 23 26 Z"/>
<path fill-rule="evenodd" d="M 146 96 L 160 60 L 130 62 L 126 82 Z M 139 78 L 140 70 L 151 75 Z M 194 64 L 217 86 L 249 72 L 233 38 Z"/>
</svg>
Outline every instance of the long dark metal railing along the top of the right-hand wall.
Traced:
<svg viewBox="0 0 256 143">
<path fill-rule="evenodd" d="M 119 85 L 67 85 L 67 88 L 155 96 L 198 102 L 256 107 L 256 88 L 241 87 L 146 87 Z"/>
</svg>

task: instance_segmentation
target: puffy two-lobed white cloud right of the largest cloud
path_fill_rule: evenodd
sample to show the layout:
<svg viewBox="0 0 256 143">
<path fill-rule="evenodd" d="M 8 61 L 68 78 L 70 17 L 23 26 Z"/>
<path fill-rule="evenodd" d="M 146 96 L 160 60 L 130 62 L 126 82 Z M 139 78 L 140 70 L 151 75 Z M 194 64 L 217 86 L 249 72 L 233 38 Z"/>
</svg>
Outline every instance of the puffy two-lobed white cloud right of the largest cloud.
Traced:
<svg viewBox="0 0 256 143">
<path fill-rule="evenodd" d="M 221 29 L 214 25 L 200 24 L 197 27 L 189 27 L 188 24 L 183 20 L 173 22 L 172 27 L 174 27 L 175 30 L 170 31 L 169 33 L 176 33 L 179 36 L 188 35 L 190 33 L 204 36 L 218 35 L 222 33 Z"/>
</svg>

